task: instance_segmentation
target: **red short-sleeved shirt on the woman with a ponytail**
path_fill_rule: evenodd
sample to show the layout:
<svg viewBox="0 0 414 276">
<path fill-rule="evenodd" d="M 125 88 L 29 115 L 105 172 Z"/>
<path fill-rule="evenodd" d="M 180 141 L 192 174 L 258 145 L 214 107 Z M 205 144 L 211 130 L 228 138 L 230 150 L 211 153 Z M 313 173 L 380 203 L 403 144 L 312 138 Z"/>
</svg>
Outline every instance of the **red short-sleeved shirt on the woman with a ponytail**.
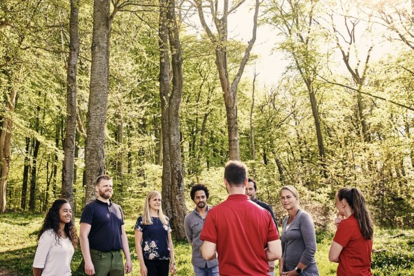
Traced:
<svg viewBox="0 0 414 276">
<path fill-rule="evenodd" d="M 362 236 L 358 221 L 353 214 L 341 221 L 333 241 L 344 246 L 339 254 L 337 275 L 373 275 L 371 273 L 373 240 Z"/>
</svg>

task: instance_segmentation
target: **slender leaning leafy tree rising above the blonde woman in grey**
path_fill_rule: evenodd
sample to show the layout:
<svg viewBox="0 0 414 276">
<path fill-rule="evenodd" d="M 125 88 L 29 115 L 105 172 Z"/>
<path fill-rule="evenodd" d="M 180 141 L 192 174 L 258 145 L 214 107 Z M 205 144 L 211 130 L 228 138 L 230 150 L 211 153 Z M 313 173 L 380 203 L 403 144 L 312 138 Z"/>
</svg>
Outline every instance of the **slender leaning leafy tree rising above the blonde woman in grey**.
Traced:
<svg viewBox="0 0 414 276">
<path fill-rule="evenodd" d="M 326 153 L 324 137 L 322 135 L 321 119 L 319 117 L 319 107 L 316 97 L 317 91 L 319 90 L 317 84 L 319 57 L 317 57 L 317 41 L 313 36 L 315 32 L 317 3 L 315 0 L 270 1 L 268 6 L 270 20 L 268 22 L 284 35 L 285 41 L 280 47 L 291 55 L 294 68 L 299 72 L 306 86 L 315 125 L 319 163 L 321 164 L 324 177 L 328 177 L 325 169 Z"/>
</svg>

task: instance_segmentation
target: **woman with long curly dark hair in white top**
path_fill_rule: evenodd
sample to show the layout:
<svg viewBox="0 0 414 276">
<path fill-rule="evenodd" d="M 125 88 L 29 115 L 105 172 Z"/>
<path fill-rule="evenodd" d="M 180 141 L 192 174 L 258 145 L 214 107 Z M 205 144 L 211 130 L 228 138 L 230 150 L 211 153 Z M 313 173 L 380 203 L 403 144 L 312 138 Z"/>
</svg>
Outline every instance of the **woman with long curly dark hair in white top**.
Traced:
<svg viewBox="0 0 414 276">
<path fill-rule="evenodd" d="M 72 208 L 66 199 L 56 199 L 46 214 L 38 235 L 33 275 L 72 275 L 70 262 L 77 248 L 78 237 Z"/>
</svg>

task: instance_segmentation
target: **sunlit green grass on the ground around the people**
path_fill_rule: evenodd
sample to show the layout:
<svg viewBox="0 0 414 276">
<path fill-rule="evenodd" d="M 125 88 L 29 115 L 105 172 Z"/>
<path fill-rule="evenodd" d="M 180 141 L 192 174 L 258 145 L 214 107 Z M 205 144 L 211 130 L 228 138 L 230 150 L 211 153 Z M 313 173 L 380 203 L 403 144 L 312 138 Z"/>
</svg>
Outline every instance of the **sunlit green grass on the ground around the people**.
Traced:
<svg viewBox="0 0 414 276">
<path fill-rule="evenodd" d="M 0 267 L 14 275 L 32 275 L 32 263 L 37 247 L 37 231 L 43 215 L 6 213 L 0 215 Z M 79 219 L 77 219 L 79 221 Z M 126 220 L 126 231 L 132 255 L 132 273 L 139 275 L 139 261 L 135 253 L 135 219 Z M 79 225 L 78 225 L 79 226 Z M 404 234 L 400 237 L 394 237 Z M 328 250 L 333 233 L 317 233 L 316 260 L 319 274 L 335 275 L 337 264 L 328 262 Z M 191 248 L 187 242 L 175 242 L 175 260 L 178 276 L 193 275 Z M 374 275 L 414 275 L 414 230 L 378 229 L 375 231 L 373 253 Z M 81 251 L 75 251 L 72 270 L 81 262 Z"/>
</svg>

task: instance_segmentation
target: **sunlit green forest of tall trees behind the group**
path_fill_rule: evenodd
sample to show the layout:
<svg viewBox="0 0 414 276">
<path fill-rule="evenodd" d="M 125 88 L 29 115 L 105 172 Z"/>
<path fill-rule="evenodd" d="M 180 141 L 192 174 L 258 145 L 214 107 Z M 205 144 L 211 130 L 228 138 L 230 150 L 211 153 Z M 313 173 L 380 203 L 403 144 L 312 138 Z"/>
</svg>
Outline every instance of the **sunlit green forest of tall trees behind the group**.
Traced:
<svg viewBox="0 0 414 276">
<path fill-rule="evenodd" d="M 413 60 L 414 0 L 2 0 L 0 218 L 79 215 L 108 173 L 129 217 L 160 190 L 183 239 L 191 186 L 218 204 L 239 159 L 279 219 L 284 185 L 322 229 L 357 187 L 413 228 Z"/>
</svg>

